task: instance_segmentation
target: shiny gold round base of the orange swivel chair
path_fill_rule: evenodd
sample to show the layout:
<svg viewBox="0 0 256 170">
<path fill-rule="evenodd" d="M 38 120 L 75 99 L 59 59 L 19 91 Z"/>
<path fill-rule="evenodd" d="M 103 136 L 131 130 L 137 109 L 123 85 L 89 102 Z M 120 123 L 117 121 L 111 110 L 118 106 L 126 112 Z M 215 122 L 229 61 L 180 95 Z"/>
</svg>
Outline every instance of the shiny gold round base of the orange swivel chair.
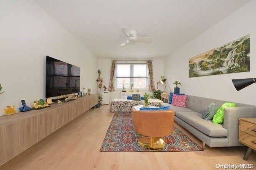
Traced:
<svg viewBox="0 0 256 170">
<path fill-rule="evenodd" d="M 160 137 L 142 136 L 139 138 L 140 146 L 150 150 L 161 150 L 165 146 L 165 141 Z"/>
</svg>

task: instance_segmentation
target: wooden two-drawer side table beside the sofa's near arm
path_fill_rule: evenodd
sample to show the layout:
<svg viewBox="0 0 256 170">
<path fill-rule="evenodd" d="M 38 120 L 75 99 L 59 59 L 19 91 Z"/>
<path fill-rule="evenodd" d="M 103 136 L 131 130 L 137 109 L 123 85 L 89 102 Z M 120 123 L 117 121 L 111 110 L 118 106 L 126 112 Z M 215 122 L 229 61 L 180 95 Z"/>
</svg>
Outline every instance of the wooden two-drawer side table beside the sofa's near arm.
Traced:
<svg viewBox="0 0 256 170">
<path fill-rule="evenodd" d="M 256 117 L 239 119 L 239 142 L 248 146 L 244 160 L 256 150 Z"/>
</svg>

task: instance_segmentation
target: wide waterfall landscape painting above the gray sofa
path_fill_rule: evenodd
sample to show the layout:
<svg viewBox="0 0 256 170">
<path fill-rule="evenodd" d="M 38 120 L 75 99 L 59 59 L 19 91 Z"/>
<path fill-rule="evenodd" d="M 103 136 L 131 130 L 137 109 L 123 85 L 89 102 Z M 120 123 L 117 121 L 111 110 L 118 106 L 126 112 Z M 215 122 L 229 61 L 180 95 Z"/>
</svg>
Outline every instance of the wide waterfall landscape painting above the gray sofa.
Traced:
<svg viewBox="0 0 256 170">
<path fill-rule="evenodd" d="M 250 35 L 190 58 L 188 67 L 188 77 L 250 71 Z"/>
</svg>

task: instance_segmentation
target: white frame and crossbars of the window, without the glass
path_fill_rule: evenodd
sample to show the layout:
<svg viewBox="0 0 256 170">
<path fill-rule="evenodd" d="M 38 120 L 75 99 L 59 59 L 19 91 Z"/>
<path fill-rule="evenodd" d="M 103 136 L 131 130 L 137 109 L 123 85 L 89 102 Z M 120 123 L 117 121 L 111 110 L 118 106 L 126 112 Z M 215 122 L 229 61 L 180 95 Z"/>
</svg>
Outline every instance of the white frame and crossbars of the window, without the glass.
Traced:
<svg viewBox="0 0 256 170">
<path fill-rule="evenodd" d="M 133 82 L 133 79 L 134 78 L 144 78 L 144 77 L 133 77 L 133 69 L 134 69 L 134 65 L 146 65 L 146 88 L 144 89 L 140 89 L 140 90 L 148 90 L 148 86 L 149 86 L 149 73 L 148 73 L 148 64 L 147 63 L 116 63 L 116 70 L 115 70 L 115 86 L 116 86 L 116 89 L 122 89 L 122 88 L 117 88 L 117 81 L 116 81 L 116 78 L 121 78 L 121 77 L 118 77 L 117 76 L 117 65 L 127 65 L 129 64 L 130 65 L 130 77 L 125 77 L 125 78 L 130 78 L 130 84 Z M 126 90 L 130 90 L 130 87 L 129 89 L 126 89 Z"/>
</svg>

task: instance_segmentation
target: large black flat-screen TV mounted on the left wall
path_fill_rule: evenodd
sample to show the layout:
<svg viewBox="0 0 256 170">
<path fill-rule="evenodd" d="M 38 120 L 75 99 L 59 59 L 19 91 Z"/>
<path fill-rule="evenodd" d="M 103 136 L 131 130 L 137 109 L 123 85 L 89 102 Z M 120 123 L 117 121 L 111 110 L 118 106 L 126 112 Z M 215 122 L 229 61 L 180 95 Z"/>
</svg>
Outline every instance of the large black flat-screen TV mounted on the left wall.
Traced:
<svg viewBox="0 0 256 170">
<path fill-rule="evenodd" d="M 46 98 L 79 91 L 80 67 L 46 56 Z"/>
</svg>

